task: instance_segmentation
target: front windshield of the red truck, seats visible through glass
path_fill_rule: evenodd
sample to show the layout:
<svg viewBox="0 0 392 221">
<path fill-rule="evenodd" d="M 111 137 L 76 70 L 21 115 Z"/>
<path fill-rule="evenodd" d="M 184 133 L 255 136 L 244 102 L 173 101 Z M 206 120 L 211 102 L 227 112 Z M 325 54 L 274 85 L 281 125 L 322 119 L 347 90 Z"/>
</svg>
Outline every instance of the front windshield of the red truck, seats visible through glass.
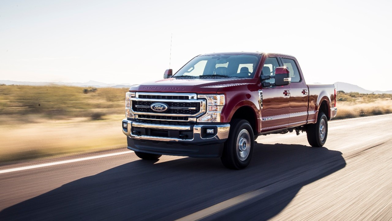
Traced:
<svg viewBox="0 0 392 221">
<path fill-rule="evenodd" d="M 253 78 L 260 55 L 203 55 L 193 58 L 173 77 Z"/>
</svg>

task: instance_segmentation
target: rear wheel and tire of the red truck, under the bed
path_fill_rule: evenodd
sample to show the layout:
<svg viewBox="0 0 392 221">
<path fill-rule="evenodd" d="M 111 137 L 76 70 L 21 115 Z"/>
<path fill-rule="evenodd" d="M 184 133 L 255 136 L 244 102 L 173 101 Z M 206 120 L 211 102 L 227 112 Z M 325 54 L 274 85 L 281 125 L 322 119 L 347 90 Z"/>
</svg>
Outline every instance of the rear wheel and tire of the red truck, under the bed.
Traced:
<svg viewBox="0 0 392 221">
<path fill-rule="evenodd" d="M 328 135 L 328 119 L 325 113 L 320 112 L 317 122 L 307 126 L 306 135 L 310 146 L 322 147 L 325 144 Z"/>
</svg>

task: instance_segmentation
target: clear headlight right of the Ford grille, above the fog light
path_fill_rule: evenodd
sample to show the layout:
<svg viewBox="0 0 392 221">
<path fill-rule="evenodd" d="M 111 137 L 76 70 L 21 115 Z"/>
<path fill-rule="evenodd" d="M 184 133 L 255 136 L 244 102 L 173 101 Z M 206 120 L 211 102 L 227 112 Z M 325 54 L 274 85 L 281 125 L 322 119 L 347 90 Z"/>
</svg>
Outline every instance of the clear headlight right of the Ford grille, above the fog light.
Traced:
<svg viewBox="0 0 392 221">
<path fill-rule="evenodd" d="M 198 122 L 220 122 L 220 115 L 225 105 L 225 95 L 198 95 L 207 100 L 207 113 L 197 119 Z"/>
</svg>

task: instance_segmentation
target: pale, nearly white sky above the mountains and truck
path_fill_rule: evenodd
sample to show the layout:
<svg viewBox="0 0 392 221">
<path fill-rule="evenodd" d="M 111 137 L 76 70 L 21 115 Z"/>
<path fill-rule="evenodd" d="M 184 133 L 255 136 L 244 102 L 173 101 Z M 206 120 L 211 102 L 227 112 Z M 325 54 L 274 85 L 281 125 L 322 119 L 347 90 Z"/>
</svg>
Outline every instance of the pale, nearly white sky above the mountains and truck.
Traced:
<svg viewBox="0 0 392 221">
<path fill-rule="evenodd" d="M 196 55 L 285 53 L 307 83 L 392 90 L 392 1 L 2 0 L 0 80 L 136 84 Z"/>
</svg>

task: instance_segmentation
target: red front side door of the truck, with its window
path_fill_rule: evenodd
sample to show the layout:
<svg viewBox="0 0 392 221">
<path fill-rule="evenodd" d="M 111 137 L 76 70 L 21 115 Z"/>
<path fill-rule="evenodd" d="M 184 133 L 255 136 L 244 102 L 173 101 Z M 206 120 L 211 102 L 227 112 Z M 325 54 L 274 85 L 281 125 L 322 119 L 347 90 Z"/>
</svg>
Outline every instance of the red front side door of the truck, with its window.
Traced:
<svg viewBox="0 0 392 221">
<path fill-rule="evenodd" d="M 281 66 L 278 57 L 268 57 L 263 65 L 262 75 L 275 75 L 275 68 Z M 263 82 L 274 83 L 275 79 Z M 262 88 L 261 130 L 266 132 L 285 128 L 289 124 L 290 108 L 289 86 Z"/>
</svg>

